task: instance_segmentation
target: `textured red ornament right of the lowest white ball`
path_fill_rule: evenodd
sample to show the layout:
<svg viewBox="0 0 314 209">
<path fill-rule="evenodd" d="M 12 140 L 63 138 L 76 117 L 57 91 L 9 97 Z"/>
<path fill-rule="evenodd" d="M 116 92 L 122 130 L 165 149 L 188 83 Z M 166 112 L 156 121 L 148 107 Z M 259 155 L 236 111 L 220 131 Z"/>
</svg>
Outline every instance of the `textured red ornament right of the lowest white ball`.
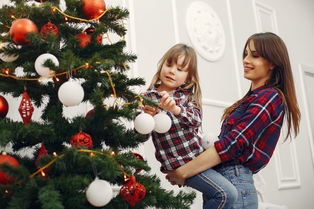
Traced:
<svg viewBox="0 0 314 209">
<path fill-rule="evenodd" d="M 136 182 L 135 176 L 132 175 L 129 181 L 120 189 L 120 197 L 124 199 L 131 207 L 145 197 L 146 189 L 143 184 Z"/>
</svg>

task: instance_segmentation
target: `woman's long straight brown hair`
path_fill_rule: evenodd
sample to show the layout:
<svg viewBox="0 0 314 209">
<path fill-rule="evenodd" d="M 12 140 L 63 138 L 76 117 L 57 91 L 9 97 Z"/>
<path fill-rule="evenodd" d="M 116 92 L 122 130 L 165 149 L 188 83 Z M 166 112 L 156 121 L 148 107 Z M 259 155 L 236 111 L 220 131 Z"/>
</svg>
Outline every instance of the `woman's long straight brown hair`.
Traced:
<svg viewBox="0 0 314 209">
<path fill-rule="evenodd" d="M 253 34 L 246 41 L 243 50 L 243 59 L 245 57 L 245 49 L 249 46 L 250 41 L 254 42 L 254 47 L 258 55 L 265 58 L 268 62 L 273 63 L 275 66 L 271 78 L 265 82 L 265 88 L 277 89 L 282 97 L 285 117 L 288 123 L 288 132 L 284 138 L 285 141 L 290 136 L 292 127 L 294 135 L 297 135 L 301 118 L 296 101 L 293 75 L 287 48 L 281 38 L 276 34 L 270 32 L 257 33 Z M 242 99 L 224 110 L 222 120 L 228 117 L 228 114 L 235 104 L 239 104 L 249 95 L 250 90 Z"/>
</svg>

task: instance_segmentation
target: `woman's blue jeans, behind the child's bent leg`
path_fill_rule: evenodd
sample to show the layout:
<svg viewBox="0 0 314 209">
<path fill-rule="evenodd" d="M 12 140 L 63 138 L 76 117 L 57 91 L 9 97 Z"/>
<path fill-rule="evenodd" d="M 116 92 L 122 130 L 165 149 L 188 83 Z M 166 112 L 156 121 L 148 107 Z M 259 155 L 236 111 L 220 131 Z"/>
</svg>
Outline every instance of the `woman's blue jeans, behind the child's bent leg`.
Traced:
<svg viewBox="0 0 314 209">
<path fill-rule="evenodd" d="M 243 165 L 234 165 L 216 169 L 228 179 L 238 191 L 238 199 L 233 209 L 257 209 L 258 198 L 252 171 Z"/>
</svg>

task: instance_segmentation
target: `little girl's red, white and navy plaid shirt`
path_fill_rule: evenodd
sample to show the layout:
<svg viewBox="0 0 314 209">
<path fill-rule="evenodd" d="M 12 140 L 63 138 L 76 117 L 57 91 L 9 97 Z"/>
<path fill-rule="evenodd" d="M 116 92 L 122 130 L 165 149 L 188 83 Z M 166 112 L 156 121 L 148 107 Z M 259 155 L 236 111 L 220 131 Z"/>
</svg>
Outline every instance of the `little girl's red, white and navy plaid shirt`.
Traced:
<svg viewBox="0 0 314 209">
<path fill-rule="evenodd" d="M 161 102 L 161 96 L 154 86 L 144 93 L 144 96 L 155 102 Z M 172 112 L 160 108 L 172 120 L 171 128 L 166 133 L 152 131 L 145 134 L 146 139 L 151 136 L 155 146 L 155 157 L 162 163 L 161 170 L 174 170 L 189 162 L 203 152 L 201 137 L 198 135 L 202 122 L 202 113 L 189 91 L 181 87 L 173 91 L 170 96 L 181 107 L 181 113 L 176 116 Z"/>
</svg>

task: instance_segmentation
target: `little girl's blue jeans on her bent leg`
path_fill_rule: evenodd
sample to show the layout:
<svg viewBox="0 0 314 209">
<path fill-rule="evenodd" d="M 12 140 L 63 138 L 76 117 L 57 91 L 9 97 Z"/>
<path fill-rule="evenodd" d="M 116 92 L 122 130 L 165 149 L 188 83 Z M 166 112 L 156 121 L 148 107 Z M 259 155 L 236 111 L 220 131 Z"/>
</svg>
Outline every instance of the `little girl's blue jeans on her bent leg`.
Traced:
<svg viewBox="0 0 314 209">
<path fill-rule="evenodd" d="M 230 209 L 238 197 L 232 183 L 211 168 L 187 178 L 185 185 L 203 193 L 203 209 Z"/>
</svg>

